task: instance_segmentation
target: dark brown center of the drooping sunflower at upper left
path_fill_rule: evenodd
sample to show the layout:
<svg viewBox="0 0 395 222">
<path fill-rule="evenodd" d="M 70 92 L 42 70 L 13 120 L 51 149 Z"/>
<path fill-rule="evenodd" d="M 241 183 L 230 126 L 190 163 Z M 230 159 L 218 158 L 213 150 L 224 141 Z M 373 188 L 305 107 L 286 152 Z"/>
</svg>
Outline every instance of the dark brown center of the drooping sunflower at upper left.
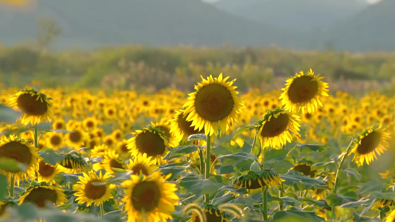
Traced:
<svg viewBox="0 0 395 222">
<path fill-rule="evenodd" d="M 17 98 L 17 105 L 22 113 L 33 116 L 41 116 L 48 110 L 47 102 L 38 99 L 38 95 L 31 96 L 31 94 L 22 94 Z"/>
</svg>

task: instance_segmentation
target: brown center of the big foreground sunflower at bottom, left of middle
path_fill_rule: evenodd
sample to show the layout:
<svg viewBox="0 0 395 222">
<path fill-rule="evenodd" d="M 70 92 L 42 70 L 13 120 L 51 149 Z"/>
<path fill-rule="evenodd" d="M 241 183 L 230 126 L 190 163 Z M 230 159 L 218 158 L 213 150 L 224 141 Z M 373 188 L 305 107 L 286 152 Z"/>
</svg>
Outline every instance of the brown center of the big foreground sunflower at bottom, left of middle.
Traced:
<svg viewBox="0 0 395 222">
<path fill-rule="evenodd" d="M 132 205 L 134 209 L 142 212 L 153 211 L 159 205 L 160 189 L 154 181 L 142 181 L 136 184 L 132 190 Z"/>
</svg>

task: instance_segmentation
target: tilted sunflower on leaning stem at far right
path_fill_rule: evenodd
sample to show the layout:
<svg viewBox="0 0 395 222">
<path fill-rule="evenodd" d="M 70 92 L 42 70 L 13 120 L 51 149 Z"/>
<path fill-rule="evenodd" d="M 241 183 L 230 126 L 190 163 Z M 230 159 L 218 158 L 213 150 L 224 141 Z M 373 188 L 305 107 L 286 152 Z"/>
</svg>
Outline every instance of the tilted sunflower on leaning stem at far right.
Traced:
<svg viewBox="0 0 395 222">
<path fill-rule="evenodd" d="M 354 148 L 350 154 L 354 153 L 354 158 L 352 159 L 358 166 L 363 166 L 365 161 L 368 165 L 377 159 L 376 153 L 380 155 L 388 149 L 389 144 L 386 139 L 391 138 L 389 133 L 385 132 L 385 129 L 380 129 L 381 127 L 365 130 L 357 141 L 355 141 Z"/>
</svg>

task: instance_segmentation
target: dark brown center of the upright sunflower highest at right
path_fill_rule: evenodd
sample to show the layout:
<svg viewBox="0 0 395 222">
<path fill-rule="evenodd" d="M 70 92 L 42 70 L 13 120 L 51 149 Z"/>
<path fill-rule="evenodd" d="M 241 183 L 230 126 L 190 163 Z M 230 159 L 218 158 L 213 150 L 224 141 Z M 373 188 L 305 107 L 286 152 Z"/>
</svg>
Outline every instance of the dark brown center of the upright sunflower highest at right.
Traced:
<svg viewBox="0 0 395 222">
<path fill-rule="evenodd" d="M 318 92 L 318 82 L 311 76 L 293 79 L 288 90 L 288 97 L 292 103 L 309 102 Z"/>
</svg>

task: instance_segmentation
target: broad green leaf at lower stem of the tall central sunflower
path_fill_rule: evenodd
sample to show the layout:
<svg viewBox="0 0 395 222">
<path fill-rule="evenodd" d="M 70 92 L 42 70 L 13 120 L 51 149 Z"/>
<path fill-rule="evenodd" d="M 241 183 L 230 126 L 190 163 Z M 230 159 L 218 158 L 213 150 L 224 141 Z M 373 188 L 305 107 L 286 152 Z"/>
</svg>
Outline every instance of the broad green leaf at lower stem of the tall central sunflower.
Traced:
<svg viewBox="0 0 395 222">
<path fill-rule="evenodd" d="M 199 195 L 213 194 L 217 192 L 218 189 L 220 189 L 222 186 L 224 186 L 224 183 L 218 182 L 217 177 L 210 177 L 209 179 L 196 179 L 196 177 L 185 177 L 180 182 L 180 185 L 185 187 L 188 192 Z"/>
</svg>

